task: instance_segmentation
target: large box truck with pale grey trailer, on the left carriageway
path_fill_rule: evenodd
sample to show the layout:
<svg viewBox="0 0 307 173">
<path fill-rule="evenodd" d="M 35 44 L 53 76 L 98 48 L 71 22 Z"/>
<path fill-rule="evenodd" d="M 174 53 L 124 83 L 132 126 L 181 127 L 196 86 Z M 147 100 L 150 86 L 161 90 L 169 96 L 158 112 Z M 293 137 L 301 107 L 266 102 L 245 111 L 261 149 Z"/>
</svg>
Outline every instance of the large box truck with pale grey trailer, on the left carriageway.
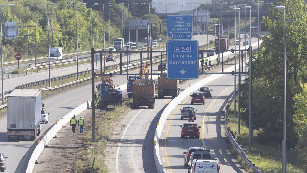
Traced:
<svg viewBox="0 0 307 173">
<path fill-rule="evenodd" d="M 8 139 L 35 140 L 41 133 L 41 91 L 16 89 L 7 98 Z"/>
</svg>

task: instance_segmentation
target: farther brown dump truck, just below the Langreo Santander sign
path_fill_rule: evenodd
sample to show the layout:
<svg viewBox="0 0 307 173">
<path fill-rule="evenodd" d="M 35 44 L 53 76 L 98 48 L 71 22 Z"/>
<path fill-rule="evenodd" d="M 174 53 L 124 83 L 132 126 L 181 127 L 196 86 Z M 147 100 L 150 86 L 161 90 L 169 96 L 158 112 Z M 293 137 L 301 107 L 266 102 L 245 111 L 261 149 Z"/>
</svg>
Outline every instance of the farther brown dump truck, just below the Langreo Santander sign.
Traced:
<svg viewBox="0 0 307 173">
<path fill-rule="evenodd" d="M 172 96 L 175 99 L 179 94 L 179 80 L 168 79 L 166 75 L 158 77 L 158 99 L 163 99 L 164 96 Z"/>
</svg>

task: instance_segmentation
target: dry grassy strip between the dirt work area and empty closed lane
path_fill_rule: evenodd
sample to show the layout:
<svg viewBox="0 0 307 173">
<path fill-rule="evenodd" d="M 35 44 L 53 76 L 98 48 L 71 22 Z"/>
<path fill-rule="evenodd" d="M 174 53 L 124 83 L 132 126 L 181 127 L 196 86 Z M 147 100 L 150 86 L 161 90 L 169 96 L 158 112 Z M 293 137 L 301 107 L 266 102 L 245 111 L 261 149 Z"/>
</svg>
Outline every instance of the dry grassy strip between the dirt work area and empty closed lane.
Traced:
<svg viewBox="0 0 307 173">
<path fill-rule="evenodd" d="M 132 99 L 126 100 L 121 105 L 117 105 L 115 109 L 106 115 L 105 119 L 100 119 L 96 122 L 96 141 L 91 142 L 92 131 L 87 132 L 83 139 L 82 147 L 78 149 L 75 163 L 76 172 L 91 172 L 91 166 L 94 157 L 94 172 L 108 172 L 107 164 L 104 163 L 103 152 L 106 148 L 107 141 L 111 135 L 114 124 L 130 111 Z"/>
</svg>

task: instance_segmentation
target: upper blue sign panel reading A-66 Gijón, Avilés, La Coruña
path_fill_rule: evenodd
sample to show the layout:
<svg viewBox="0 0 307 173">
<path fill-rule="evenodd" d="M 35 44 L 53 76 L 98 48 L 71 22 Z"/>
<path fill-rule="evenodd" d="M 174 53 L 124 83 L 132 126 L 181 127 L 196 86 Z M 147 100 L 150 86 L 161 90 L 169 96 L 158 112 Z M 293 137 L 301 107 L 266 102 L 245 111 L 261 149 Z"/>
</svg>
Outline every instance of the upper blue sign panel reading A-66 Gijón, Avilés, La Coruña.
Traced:
<svg viewBox="0 0 307 173">
<path fill-rule="evenodd" d="M 174 32 L 193 33 L 193 22 L 191 15 L 169 15 L 167 16 L 167 36 Z"/>
</svg>

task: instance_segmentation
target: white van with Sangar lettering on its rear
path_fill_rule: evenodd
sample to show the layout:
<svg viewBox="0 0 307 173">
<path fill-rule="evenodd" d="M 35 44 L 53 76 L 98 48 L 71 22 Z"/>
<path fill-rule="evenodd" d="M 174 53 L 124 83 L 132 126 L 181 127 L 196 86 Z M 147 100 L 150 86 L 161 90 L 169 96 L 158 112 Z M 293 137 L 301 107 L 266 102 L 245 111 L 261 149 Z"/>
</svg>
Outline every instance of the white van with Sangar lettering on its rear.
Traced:
<svg viewBox="0 0 307 173">
<path fill-rule="evenodd" d="M 220 173 L 220 166 L 215 159 L 194 159 L 192 166 L 188 165 L 191 169 L 190 173 Z"/>
</svg>

